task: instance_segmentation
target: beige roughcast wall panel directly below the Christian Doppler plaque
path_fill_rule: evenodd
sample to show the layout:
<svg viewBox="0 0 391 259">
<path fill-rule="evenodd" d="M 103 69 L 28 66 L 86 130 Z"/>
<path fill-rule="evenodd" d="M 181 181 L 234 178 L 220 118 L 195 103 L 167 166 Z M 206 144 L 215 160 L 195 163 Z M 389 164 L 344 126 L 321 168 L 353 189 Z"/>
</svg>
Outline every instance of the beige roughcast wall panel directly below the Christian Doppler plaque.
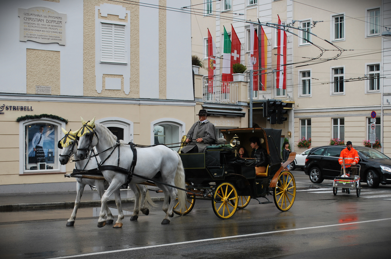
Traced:
<svg viewBox="0 0 391 259">
<path fill-rule="evenodd" d="M 60 94 L 60 51 L 26 49 L 27 94 L 35 94 L 36 85 L 51 86 Z"/>
</svg>

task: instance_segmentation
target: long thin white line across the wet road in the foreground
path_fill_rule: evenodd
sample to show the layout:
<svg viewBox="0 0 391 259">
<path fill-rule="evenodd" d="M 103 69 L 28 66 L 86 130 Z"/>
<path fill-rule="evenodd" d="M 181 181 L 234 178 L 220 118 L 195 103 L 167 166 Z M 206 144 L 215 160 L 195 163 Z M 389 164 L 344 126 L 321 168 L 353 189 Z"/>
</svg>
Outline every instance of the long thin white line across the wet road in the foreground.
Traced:
<svg viewBox="0 0 391 259">
<path fill-rule="evenodd" d="M 301 228 L 298 228 L 298 229 L 284 229 L 284 230 L 260 232 L 260 233 L 253 233 L 253 234 L 244 234 L 244 235 L 237 235 L 237 236 L 226 236 L 226 237 L 221 237 L 221 238 L 199 239 L 199 240 L 184 241 L 184 242 L 177 242 L 177 243 L 170 243 L 170 244 L 163 244 L 163 245 L 151 245 L 151 246 L 147 246 L 147 247 L 133 247 L 133 248 L 126 248 L 126 249 L 120 249 L 120 250 L 111 250 L 111 251 L 104 251 L 104 252 L 96 252 L 96 253 L 89 253 L 89 254 L 78 254 L 78 255 L 68 255 L 68 256 L 52 257 L 52 258 L 48 258 L 48 259 L 65 259 L 65 258 L 74 258 L 74 257 L 88 256 L 88 255 L 111 254 L 111 253 L 126 252 L 126 251 L 140 250 L 140 249 L 146 249 L 146 248 L 167 247 L 167 246 L 171 246 L 171 245 L 183 245 L 183 244 L 189 244 L 189 243 L 199 243 L 199 242 L 215 241 L 215 240 L 230 239 L 230 238 L 243 238 L 243 237 L 248 237 L 248 236 L 259 236 L 259 235 L 265 235 L 265 234 L 274 234 L 274 233 L 288 232 L 288 231 L 298 231 L 298 230 L 305 230 L 305 229 L 319 229 L 321 227 L 335 227 L 335 226 L 343 226 L 343 225 L 353 225 L 353 224 L 360 224 L 360 223 L 367 223 L 367 222 L 377 222 L 377 221 L 383 221 L 383 220 L 391 220 L 391 218 L 380 218 L 380 219 L 377 219 L 377 220 L 365 220 L 365 221 L 357 221 L 357 222 L 349 222 L 349 223 L 341 223 L 341 224 L 332 224 L 332 225 L 323 225 L 323 226 L 316 226 L 316 227 L 301 227 Z"/>
</svg>

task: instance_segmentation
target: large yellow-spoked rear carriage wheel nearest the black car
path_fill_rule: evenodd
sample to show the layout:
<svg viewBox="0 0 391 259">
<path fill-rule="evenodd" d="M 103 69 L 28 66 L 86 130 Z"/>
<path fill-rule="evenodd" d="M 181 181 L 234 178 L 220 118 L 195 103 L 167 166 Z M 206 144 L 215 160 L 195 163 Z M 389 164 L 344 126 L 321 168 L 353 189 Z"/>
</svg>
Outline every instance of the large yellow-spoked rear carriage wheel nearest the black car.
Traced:
<svg viewBox="0 0 391 259">
<path fill-rule="evenodd" d="M 282 171 L 278 176 L 277 185 L 274 188 L 274 204 L 280 211 L 287 211 L 292 207 L 296 197 L 296 182 L 289 171 Z"/>
</svg>

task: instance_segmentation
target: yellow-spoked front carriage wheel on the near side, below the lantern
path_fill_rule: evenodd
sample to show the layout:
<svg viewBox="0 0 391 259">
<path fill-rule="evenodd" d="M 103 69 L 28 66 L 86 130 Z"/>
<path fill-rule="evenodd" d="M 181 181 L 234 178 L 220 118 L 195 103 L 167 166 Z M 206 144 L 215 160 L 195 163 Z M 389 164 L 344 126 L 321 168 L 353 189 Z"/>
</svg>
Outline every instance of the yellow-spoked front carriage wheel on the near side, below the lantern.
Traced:
<svg viewBox="0 0 391 259">
<path fill-rule="evenodd" d="M 230 218 L 238 207 L 238 193 L 230 183 L 221 183 L 213 192 L 212 208 L 216 216 Z"/>
</svg>

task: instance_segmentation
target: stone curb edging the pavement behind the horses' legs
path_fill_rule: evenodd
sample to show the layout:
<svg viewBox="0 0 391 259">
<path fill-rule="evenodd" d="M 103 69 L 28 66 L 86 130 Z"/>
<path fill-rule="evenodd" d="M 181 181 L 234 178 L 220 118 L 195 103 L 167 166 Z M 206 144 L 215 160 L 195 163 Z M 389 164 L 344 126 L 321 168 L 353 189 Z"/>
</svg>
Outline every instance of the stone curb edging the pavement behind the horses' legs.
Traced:
<svg viewBox="0 0 391 259">
<path fill-rule="evenodd" d="M 164 197 L 151 197 L 152 201 L 163 201 Z M 135 202 L 135 198 L 121 199 L 122 203 Z M 115 204 L 114 199 L 108 200 L 108 204 Z M 80 206 L 100 206 L 100 200 L 81 200 Z M 0 205 L 0 212 L 22 211 L 31 209 L 72 209 L 75 206 L 74 201 L 65 202 L 38 202 L 38 203 L 18 203 Z"/>
</svg>

